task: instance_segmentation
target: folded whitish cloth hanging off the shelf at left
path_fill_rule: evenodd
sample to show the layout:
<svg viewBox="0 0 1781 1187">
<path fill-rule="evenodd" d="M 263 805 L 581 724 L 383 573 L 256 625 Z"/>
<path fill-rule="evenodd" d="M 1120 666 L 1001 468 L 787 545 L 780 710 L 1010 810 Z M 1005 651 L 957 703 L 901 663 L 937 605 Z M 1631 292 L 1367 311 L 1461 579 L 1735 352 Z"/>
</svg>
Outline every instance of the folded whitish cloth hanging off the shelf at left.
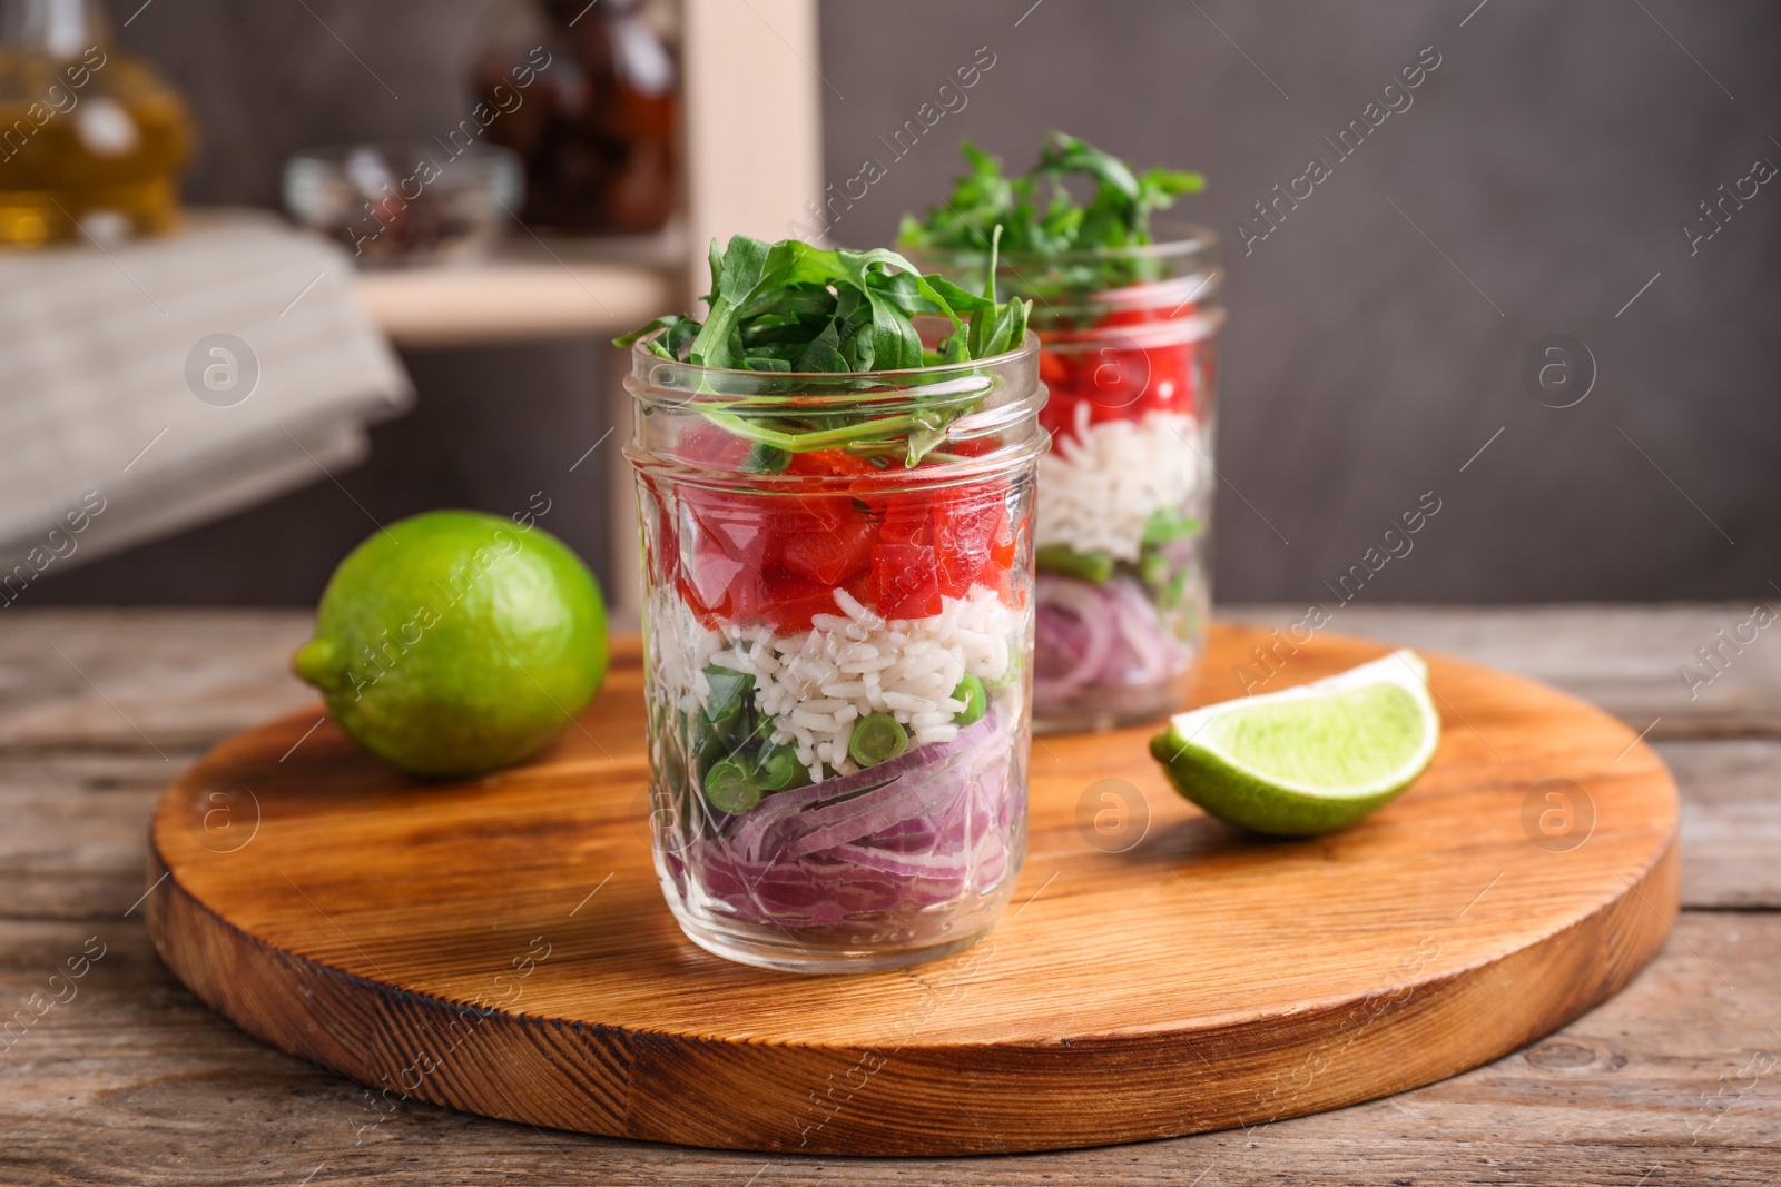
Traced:
<svg viewBox="0 0 1781 1187">
<path fill-rule="evenodd" d="M 413 399 L 347 254 L 265 214 L 0 253 L 0 605 L 52 562 L 324 482 Z"/>
</svg>

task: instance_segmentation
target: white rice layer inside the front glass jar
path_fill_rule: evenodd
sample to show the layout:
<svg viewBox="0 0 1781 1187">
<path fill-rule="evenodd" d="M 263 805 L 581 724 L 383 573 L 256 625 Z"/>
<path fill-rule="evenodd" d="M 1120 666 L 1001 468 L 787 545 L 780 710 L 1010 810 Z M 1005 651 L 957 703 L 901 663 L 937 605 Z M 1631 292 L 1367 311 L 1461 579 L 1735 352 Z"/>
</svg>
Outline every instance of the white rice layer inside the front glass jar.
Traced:
<svg viewBox="0 0 1781 1187">
<path fill-rule="evenodd" d="M 835 591 L 839 614 L 817 614 L 810 630 L 777 635 L 768 626 L 711 630 L 671 589 L 650 603 L 650 651 L 659 687 L 684 712 L 711 699 L 705 667 L 730 667 L 755 678 L 755 708 L 773 719 L 773 740 L 793 744 L 810 778 L 853 774 L 848 758 L 853 723 L 890 714 L 912 746 L 951 742 L 953 714 L 964 710 L 953 689 L 965 673 L 996 682 L 1008 674 L 1015 612 L 994 591 L 940 598 L 940 612 L 883 619 L 848 591 Z"/>
</svg>

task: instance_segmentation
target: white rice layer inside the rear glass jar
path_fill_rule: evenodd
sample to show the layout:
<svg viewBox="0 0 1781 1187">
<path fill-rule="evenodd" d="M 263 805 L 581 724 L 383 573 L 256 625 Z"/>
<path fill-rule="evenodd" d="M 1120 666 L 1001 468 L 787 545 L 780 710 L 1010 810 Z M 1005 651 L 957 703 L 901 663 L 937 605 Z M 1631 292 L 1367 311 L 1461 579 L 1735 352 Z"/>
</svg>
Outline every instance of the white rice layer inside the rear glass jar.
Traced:
<svg viewBox="0 0 1781 1187">
<path fill-rule="evenodd" d="M 1136 561 L 1154 511 L 1204 495 L 1208 445 L 1193 416 L 1152 411 L 1090 424 L 1088 404 L 1078 404 L 1074 436 L 1054 436 L 1038 459 L 1035 543 Z"/>
</svg>

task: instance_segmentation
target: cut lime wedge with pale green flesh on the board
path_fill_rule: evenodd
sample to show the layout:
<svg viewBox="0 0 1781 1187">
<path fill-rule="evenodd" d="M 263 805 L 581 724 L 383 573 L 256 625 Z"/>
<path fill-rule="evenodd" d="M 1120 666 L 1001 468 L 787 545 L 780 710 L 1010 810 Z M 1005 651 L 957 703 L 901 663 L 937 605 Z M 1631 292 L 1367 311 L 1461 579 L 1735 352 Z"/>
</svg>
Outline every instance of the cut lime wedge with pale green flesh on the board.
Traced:
<svg viewBox="0 0 1781 1187">
<path fill-rule="evenodd" d="M 1441 715 L 1409 650 L 1314 683 L 1206 705 L 1151 739 L 1175 790 L 1275 836 L 1348 828 L 1428 769 Z"/>
</svg>

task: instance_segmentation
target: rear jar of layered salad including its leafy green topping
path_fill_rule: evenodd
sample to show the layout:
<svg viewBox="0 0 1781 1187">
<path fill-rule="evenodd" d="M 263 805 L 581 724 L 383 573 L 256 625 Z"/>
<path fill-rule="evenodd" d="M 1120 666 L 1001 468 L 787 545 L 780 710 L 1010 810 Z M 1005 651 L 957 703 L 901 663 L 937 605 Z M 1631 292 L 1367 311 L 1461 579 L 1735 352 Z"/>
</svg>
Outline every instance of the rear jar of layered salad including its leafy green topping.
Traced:
<svg viewBox="0 0 1781 1187">
<path fill-rule="evenodd" d="M 1147 721 L 1181 707 L 1209 614 L 1215 240 L 1152 230 L 1154 210 L 1202 187 L 1136 173 L 1065 135 L 1006 178 L 965 144 L 947 201 L 907 217 L 901 246 L 1033 299 L 1049 390 L 1040 461 L 1035 728 Z M 1076 190 L 1088 194 L 1079 201 Z M 988 242 L 1001 226 L 1004 251 Z"/>
</svg>

